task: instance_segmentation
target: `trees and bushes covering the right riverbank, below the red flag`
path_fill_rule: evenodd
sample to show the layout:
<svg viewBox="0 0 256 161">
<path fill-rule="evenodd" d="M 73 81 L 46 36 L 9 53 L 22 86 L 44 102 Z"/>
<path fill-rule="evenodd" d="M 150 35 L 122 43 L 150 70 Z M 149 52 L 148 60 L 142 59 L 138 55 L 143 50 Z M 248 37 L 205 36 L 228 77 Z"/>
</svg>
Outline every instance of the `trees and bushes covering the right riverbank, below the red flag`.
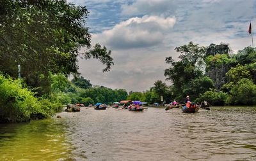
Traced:
<svg viewBox="0 0 256 161">
<path fill-rule="evenodd" d="M 134 92 L 130 98 L 146 102 L 184 102 L 189 95 L 194 102 L 208 101 L 212 105 L 256 104 L 256 51 L 248 46 L 236 54 L 228 45 L 198 46 L 193 42 L 175 48 L 179 60 L 167 57 L 165 69 L 167 86 L 156 81 L 146 92 Z"/>
</svg>

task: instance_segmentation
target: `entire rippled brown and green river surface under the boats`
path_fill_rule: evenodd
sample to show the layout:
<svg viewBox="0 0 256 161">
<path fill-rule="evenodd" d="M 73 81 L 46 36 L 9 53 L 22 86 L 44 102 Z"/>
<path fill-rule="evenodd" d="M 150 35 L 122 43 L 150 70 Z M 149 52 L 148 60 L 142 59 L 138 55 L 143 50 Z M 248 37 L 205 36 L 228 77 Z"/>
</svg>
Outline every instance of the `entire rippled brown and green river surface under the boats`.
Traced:
<svg viewBox="0 0 256 161">
<path fill-rule="evenodd" d="M 58 115 L 0 124 L 0 160 L 256 160 L 256 107 Z"/>
</svg>

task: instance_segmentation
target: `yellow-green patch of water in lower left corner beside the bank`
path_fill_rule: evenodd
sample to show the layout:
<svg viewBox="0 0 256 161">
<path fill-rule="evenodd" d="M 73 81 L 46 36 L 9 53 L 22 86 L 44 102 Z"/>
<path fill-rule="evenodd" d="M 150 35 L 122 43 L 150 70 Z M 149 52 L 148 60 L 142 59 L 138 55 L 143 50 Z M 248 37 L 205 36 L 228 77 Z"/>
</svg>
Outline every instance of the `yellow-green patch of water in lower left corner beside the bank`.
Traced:
<svg viewBox="0 0 256 161">
<path fill-rule="evenodd" d="M 72 160 L 67 125 L 56 119 L 0 126 L 0 160 Z"/>
</svg>

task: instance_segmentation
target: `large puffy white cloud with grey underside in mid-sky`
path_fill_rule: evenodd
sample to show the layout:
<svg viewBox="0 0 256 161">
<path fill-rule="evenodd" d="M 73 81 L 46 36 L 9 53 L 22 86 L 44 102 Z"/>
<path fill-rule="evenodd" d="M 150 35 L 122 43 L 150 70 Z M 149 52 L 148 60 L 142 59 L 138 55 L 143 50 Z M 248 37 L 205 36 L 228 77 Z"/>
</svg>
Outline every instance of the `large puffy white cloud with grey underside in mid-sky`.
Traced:
<svg viewBox="0 0 256 161">
<path fill-rule="evenodd" d="M 112 48 L 141 48 L 161 43 L 167 31 L 172 29 L 175 17 L 148 16 L 129 18 L 113 29 L 95 34 L 95 39 L 104 39 Z"/>
</svg>

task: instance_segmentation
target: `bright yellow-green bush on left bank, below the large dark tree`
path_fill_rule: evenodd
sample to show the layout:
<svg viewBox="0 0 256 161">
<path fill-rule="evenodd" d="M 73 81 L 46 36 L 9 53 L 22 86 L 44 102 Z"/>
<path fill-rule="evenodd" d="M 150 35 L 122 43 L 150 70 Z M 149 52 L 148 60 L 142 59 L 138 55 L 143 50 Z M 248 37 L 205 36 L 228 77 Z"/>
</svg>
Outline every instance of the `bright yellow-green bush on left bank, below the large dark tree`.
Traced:
<svg viewBox="0 0 256 161">
<path fill-rule="evenodd" d="M 60 110 L 59 103 L 39 100 L 34 95 L 28 88 L 20 88 L 17 80 L 0 74 L 0 122 L 28 122 Z"/>
</svg>

